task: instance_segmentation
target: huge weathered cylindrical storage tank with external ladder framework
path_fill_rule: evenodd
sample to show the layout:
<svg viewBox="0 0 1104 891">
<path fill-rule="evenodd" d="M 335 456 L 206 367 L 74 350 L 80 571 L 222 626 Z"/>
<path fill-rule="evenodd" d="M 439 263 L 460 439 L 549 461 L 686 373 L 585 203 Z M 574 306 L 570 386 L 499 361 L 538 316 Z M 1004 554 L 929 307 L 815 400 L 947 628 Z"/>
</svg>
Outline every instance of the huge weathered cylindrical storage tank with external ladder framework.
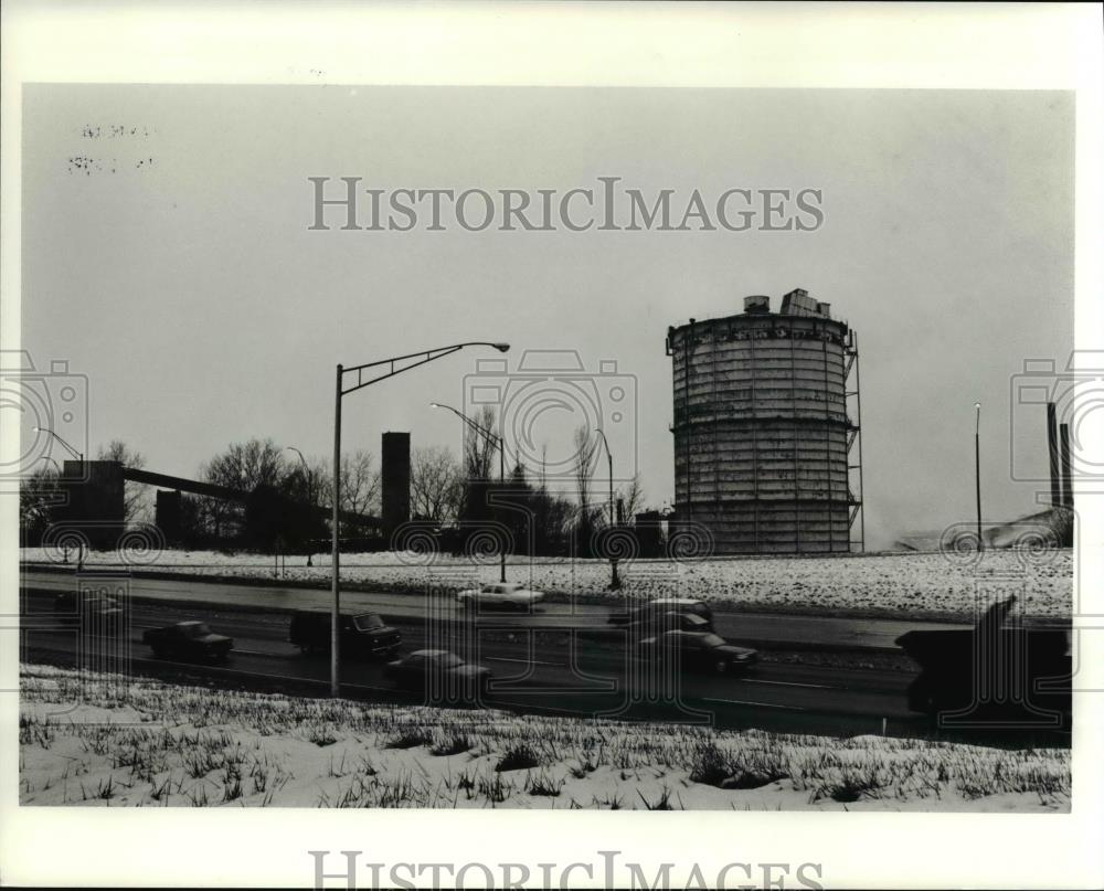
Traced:
<svg viewBox="0 0 1104 891">
<path fill-rule="evenodd" d="M 858 340 L 796 289 L 667 331 L 675 528 L 719 554 L 862 550 Z"/>
</svg>

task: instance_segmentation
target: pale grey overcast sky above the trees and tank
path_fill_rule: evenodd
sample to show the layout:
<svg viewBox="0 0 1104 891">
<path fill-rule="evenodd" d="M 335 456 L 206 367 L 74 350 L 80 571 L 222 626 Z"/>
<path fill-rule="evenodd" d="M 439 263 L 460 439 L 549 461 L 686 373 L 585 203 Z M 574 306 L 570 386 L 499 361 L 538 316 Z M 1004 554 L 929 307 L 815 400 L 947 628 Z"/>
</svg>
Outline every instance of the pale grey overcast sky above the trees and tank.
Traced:
<svg viewBox="0 0 1104 891">
<path fill-rule="evenodd" d="M 603 423 L 616 475 L 635 462 L 659 506 L 673 487 L 667 327 L 802 287 L 859 336 L 867 535 L 881 547 L 973 518 L 976 401 L 987 519 L 1033 508 L 1010 449 L 1044 476 L 1044 417 L 1010 411 L 1011 379 L 1072 347 L 1072 140 L 1071 96 L 1047 92 L 35 86 L 23 344 L 40 369 L 67 359 L 88 375 L 89 452 L 123 438 L 184 476 L 253 436 L 327 455 L 337 362 L 502 340 L 512 371 L 526 350 L 576 350 L 588 371 L 615 360 L 635 389 L 637 409 Z M 694 189 L 818 189 L 825 220 L 308 231 L 308 177 L 535 195 L 602 176 L 673 189 L 680 209 Z M 459 422 L 428 403 L 470 404 L 490 357 L 348 396 L 344 447 L 378 452 L 401 429 L 458 448 Z M 554 462 L 576 418 L 534 417 Z"/>
</svg>

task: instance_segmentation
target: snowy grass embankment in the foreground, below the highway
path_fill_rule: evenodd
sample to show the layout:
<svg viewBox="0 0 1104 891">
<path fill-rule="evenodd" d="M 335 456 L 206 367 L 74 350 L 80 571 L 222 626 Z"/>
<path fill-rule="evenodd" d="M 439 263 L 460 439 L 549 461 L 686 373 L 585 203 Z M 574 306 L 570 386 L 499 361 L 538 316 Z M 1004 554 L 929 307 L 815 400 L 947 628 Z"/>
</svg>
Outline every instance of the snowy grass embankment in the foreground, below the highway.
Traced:
<svg viewBox="0 0 1104 891">
<path fill-rule="evenodd" d="M 1070 753 L 361 706 L 22 667 L 20 802 L 1069 812 Z"/>
</svg>

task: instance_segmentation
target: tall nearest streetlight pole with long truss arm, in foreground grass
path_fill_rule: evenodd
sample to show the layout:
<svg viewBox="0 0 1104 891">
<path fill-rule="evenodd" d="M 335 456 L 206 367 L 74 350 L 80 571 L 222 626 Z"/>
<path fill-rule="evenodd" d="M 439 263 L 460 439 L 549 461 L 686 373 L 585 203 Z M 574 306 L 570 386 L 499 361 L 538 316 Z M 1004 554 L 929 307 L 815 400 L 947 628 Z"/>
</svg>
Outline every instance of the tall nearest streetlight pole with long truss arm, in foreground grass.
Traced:
<svg viewBox="0 0 1104 891">
<path fill-rule="evenodd" d="M 465 347 L 493 347 L 499 352 L 506 352 L 510 349 L 509 343 L 491 343 L 486 340 L 474 340 L 465 343 L 454 343 L 450 347 L 438 347 L 433 350 L 412 352 L 406 356 L 394 356 L 391 359 L 380 359 L 375 362 L 367 362 L 362 365 L 353 365 L 352 368 L 346 368 L 342 364 L 338 364 L 337 367 L 337 375 L 333 388 L 333 516 L 331 522 L 332 555 L 330 560 L 330 593 L 333 598 L 333 609 L 330 617 L 330 696 L 338 697 L 341 694 L 341 661 L 339 653 L 341 588 L 338 581 L 340 572 L 338 542 L 341 534 L 341 517 L 339 507 L 341 503 L 341 397 L 347 396 L 357 390 L 370 386 L 373 383 L 379 383 L 388 378 L 402 374 L 404 371 L 410 371 L 418 365 L 424 365 L 426 362 L 432 362 L 435 359 L 443 359 L 446 356 L 452 356 L 454 352 L 463 350 Z M 374 373 L 374 376 L 369 376 L 368 380 L 364 379 L 365 371 L 368 371 L 371 375 L 373 372 L 369 371 L 370 369 L 383 369 L 384 365 L 388 367 L 386 370 L 381 370 L 379 373 Z M 351 382 L 349 386 L 344 385 L 346 374 L 357 375 L 355 381 Z"/>
</svg>

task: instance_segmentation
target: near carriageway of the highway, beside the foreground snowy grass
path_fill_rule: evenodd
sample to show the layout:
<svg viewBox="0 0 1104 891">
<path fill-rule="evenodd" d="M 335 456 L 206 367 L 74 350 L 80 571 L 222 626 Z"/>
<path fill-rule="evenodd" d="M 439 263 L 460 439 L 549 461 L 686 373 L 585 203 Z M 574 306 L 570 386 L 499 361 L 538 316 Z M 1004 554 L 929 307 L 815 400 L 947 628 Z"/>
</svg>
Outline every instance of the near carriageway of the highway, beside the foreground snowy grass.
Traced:
<svg viewBox="0 0 1104 891">
<path fill-rule="evenodd" d="M 118 640 L 83 638 L 75 619 L 59 618 L 54 594 L 24 591 L 23 658 L 104 669 L 125 666 L 137 673 L 171 679 L 216 680 L 251 689 L 328 691 L 329 659 L 304 656 L 288 643 L 286 613 L 195 608 L 169 602 L 136 603 Z M 203 618 L 235 639 L 225 668 L 155 660 L 141 644 L 146 628 Z M 577 717 L 680 720 L 729 728 L 793 732 L 915 732 L 922 719 L 904 707 L 910 676 L 892 671 L 827 669 L 761 662 L 744 676 L 661 672 L 633 657 L 624 635 L 594 637 L 573 628 L 526 628 L 520 616 L 485 615 L 476 622 L 453 616 L 426 622 L 388 614 L 403 634 L 403 651 L 450 649 L 493 672 L 488 708 Z M 414 701 L 384 677 L 383 665 L 343 664 L 343 692 L 371 701 Z M 416 699 L 416 698 L 415 698 Z"/>
</svg>

